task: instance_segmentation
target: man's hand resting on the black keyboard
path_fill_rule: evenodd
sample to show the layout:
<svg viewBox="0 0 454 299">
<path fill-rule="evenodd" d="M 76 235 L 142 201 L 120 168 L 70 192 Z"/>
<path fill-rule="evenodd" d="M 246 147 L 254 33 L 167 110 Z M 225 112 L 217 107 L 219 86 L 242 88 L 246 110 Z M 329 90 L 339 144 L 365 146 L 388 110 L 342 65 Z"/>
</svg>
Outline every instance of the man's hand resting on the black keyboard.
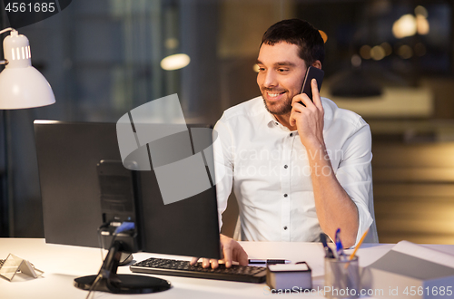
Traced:
<svg viewBox="0 0 454 299">
<path fill-rule="evenodd" d="M 248 265 L 248 254 L 244 251 L 242 246 L 233 240 L 231 237 L 220 235 L 221 249 L 224 258 L 222 261 L 226 267 L 230 267 L 232 262 L 238 262 L 240 265 Z M 194 265 L 199 260 L 199 257 L 192 257 L 191 265 Z M 212 265 L 215 269 L 218 267 L 219 262 L 217 259 L 202 258 L 202 266 L 208 268 Z"/>
</svg>

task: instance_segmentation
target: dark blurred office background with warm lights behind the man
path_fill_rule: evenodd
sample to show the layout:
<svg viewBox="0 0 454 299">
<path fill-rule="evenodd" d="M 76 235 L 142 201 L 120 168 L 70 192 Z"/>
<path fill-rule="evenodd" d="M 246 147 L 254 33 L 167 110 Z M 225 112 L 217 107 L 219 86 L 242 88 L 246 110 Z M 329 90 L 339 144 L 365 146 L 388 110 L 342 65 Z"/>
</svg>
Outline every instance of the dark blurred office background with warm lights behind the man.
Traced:
<svg viewBox="0 0 454 299">
<path fill-rule="evenodd" d="M 454 244 L 452 13 L 447 0 L 74 0 L 18 29 L 56 103 L 1 114 L 0 174 L 8 121 L 14 205 L 3 196 L 0 236 L 44 236 L 34 120 L 115 122 L 176 92 L 187 121 L 214 123 L 259 95 L 263 32 L 298 17 L 327 36 L 322 95 L 370 123 L 380 242 Z M 191 63 L 164 71 L 173 53 Z"/>
</svg>

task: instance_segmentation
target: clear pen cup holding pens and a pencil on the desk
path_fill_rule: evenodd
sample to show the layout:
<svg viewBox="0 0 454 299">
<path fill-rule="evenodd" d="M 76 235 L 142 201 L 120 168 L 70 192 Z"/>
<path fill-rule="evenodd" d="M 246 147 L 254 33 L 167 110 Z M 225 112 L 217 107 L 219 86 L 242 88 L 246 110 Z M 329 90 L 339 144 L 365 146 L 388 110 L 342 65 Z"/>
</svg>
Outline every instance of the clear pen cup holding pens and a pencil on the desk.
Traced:
<svg viewBox="0 0 454 299">
<path fill-rule="evenodd" d="M 351 261 L 325 257 L 325 287 L 327 298 L 358 298 L 360 267 L 358 256 Z"/>
</svg>

